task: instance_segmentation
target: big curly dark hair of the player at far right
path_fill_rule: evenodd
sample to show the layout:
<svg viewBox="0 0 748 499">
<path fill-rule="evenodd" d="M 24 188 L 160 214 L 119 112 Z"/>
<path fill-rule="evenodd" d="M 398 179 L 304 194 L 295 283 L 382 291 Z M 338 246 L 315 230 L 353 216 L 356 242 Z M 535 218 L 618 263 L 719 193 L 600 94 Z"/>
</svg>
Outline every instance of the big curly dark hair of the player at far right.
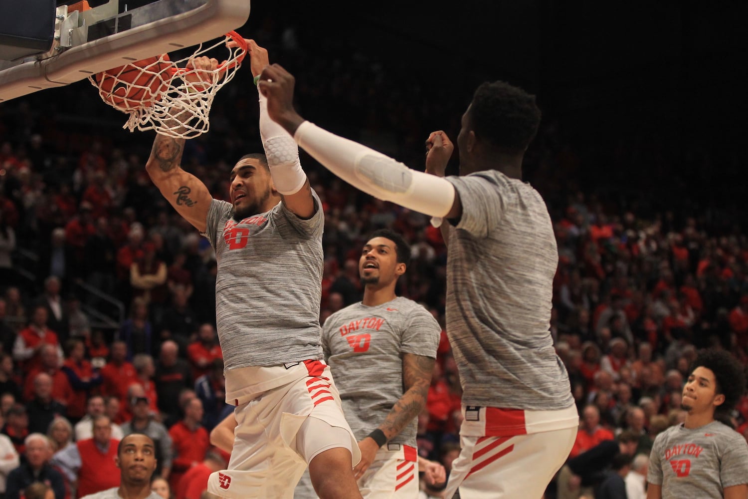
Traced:
<svg viewBox="0 0 748 499">
<path fill-rule="evenodd" d="M 705 367 L 714 373 L 717 386 L 714 387 L 715 394 L 725 396 L 725 401 L 717 406 L 714 411 L 717 414 L 726 415 L 735 408 L 746 387 L 746 377 L 743 366 L 738 359 L 726 350 L 707 349 L 699 352 L 691 364 L 690 372 L 696 367 Z"/>
</svg>

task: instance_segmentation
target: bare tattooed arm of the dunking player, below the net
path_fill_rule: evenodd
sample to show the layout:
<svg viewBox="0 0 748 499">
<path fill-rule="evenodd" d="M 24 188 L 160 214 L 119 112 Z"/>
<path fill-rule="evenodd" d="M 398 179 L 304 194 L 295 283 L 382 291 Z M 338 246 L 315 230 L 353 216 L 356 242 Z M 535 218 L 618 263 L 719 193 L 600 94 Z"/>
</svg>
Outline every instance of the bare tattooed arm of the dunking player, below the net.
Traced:
<svg viewBox="0 0 748 499">
<path fill-rule="evenodd" d="M 180 167 L 185 139 L 156 135 L 146 163 L 150 180 L 171 206 L 200 232 L 205 232 L 212 196 L 200 179 Z"/>
</svg>

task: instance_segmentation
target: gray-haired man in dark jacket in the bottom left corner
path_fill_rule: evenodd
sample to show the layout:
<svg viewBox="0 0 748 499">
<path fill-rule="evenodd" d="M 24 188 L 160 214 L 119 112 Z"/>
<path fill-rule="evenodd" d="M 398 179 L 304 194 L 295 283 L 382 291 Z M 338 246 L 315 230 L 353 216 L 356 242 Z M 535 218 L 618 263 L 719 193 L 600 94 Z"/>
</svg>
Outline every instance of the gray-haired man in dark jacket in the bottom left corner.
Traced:
<svg viewBox="0 0 748 499">
<path fill-rule="evenodd" d="M 26 461 L 7 476 L 5 499 L 19 499 L 21 492 L 31 483 L 49 483 L 55 499 L 64 499 L 65 483 L 62 474 L 49 465 L 52 444 L 41 433 L 31 433 L 24 441 Z"/>
</svg>

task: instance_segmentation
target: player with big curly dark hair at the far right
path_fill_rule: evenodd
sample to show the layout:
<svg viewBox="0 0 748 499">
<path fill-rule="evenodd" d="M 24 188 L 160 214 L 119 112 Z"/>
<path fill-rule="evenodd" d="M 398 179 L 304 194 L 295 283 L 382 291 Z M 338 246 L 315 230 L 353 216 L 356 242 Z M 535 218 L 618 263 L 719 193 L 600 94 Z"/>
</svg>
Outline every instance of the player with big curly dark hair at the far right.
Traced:
<svg viewBox="0 0 748 499">
<path fill-rule="evenodd" d="M 686 420 L 654 439 L 648 499 L 748 497 L 748 444 L 720 422 L 729 422 L 744 390 L 743 366 L 732 355 L 699 352 L 683 388 Z"/>
</svg>

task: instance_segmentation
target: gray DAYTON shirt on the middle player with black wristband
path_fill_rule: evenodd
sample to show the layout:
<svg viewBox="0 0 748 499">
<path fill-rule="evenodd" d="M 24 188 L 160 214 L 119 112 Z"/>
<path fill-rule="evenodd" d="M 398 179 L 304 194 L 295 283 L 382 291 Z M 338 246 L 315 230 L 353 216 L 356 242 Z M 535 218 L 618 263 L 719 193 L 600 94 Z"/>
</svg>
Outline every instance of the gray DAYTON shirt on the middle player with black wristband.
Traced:
<svg viewBox="0 0 748 499">
<path fill-rule="evenodd" d="M 402 397 L 402 354 L 436 358 L 441 327 L 428 310 L 398 297 L 367 307 L 356 303 L 325 321 L 322 348 L 353 434 L 369 435 Z M 417 420 L 391 444 L 416 447 Z"/>
</svg>

